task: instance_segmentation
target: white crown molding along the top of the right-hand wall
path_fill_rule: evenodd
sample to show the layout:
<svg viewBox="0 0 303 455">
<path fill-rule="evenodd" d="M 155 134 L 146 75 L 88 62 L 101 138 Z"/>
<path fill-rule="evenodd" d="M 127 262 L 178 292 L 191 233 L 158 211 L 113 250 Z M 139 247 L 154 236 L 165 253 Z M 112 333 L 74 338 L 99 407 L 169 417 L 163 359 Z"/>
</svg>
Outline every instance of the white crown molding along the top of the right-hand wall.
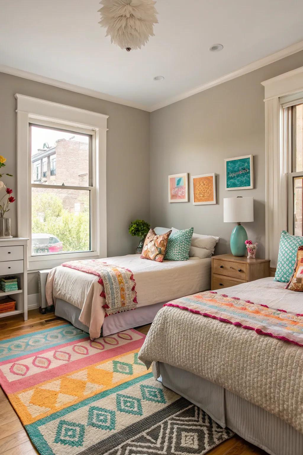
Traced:
<svg viewBox="0 0 303 455">
<path fill-rule="evenodd" d="M 231 73 L 228 73 L 225 76 L 221 76 L 218 79 L 215 79 L 214 81 L 207 82 L 206 84 L 203 84 L 192 90 L 181 93 L 180 95 L 176 95 L 174 97 L 168 98 L 166 101 L 162 101 L 158 104 L 155 104 L 154 106 L 151 106 L 149 111 L 153 112 L 153 111 L 156 111 L 157 109 L 161 109 L 162 107 L 169 106 L 170 104 L 173 104 L 177 101 L 181 101 L 181 100 L 184 100 L 185 98 L 189 98 L 189 96 L 193 96 L 196 93 L 200 93 L 201 91 L 207 90 L 211 87 L 215 87 L 219 84 L 223 84 L 224 82 L 231 81 L 232 79 L 235 79 L 236 77 L 239 77 L 239 76 L 243 76 L 244 74 L 250 73 L 251 71 L 258 70 L 259 68 L 262 68 L 262 66 L 270 65 L 271 63 L 274 63 L 275 61 L 281 60 L 284 57 L 291 56 L 299 51 L 303 51 L 303 41 L 300 41 L 296 44 L 288 46 L 285 49 L 282 49 L 281 51 L 275 52 L 274 54 L 266 56 L 260 60 L 254 61 L 253 63 L 249 63 L 248 65 L 243 66 L 239 70 L 232 71 Z M 297 71 L 297 70 L 293 70 L 293 71 Z M 278 77 L 279 76 L 277 76 L 277 78 Z M 264 82 L 263 82 L 263 84 L 264 84 Z"/>
</svg>

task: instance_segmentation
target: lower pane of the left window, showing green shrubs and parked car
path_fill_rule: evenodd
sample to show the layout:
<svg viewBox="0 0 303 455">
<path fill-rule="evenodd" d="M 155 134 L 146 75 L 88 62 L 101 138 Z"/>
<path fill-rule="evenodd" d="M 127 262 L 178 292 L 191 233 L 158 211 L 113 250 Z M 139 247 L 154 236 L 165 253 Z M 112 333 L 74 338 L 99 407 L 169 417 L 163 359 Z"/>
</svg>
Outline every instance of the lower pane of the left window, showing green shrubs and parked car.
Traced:
<svg viewBox="0 0 303 455">
<path fill-rule="evenodd" d="M 90 191 L 32 188 L 32 254 L 90 251 Z"/>
</svg>

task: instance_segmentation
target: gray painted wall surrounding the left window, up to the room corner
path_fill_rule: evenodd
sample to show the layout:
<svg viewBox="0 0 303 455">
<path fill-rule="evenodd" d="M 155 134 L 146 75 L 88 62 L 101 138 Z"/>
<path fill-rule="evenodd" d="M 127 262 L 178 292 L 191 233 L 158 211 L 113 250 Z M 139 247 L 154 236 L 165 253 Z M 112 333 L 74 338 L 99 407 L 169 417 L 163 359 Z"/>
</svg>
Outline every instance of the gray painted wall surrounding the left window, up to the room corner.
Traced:
<svg viewBox="0 0 303 455">
<path fill-rule="evenodd" d="M 0 73 L 0 155 L 5 171 L 14 175 L 7 183 L 16 191 L 15 93 L 109 115 L 106 158 L 107 253 L 134 252 L 138 238 L 128 233 L 135 218 L 149 221 L 149 112 L 103 101 L 58 87 Z M 16 193 L 15 193 L 16 194 Z M 17 234 L 17 206 L 10 209 L 12 235 Z M 102 213 L 100 214 L 102 222 Z M 38 292 L 37 274 L 29 274 L 28 293 Z"/>
</svg>

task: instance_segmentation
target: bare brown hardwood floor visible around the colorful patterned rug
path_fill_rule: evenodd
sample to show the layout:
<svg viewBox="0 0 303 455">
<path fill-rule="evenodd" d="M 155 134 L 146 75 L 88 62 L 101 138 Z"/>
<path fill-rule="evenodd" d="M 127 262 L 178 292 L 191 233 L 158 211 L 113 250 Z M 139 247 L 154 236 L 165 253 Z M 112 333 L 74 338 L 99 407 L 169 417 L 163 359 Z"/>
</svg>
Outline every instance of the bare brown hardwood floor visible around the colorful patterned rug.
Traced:
<svg viewBox="0 0 303 455">
<path fill-rule="evenodd" d="M 23 316 L 19 314 L 0 321 L 0 340 L 66 324 L 66 321 L 57 318 L 55 313 L 41 314 L 38 310 L 29 311 L 28 321 L 24 321 Z M 137 330 L 146 335 L 149 327 L 150 324 Z M 0 389 L 0 455 L 35 455 L 37 453 L 18 415 L 3 390 Z M 210 450 L 208 455 L 266 455 L 266 453 L 239 436 L 233 436 Z"/>
</svg>

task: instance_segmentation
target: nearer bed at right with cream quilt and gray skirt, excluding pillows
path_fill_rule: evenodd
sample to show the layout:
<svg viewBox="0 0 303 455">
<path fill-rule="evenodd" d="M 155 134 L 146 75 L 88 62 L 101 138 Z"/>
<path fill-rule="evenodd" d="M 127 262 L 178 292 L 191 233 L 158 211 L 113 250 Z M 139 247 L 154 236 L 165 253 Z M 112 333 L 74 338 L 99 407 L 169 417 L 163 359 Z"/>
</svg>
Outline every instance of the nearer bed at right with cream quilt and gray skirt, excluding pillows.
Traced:
<svg viewBox="0 0 303 455">
<path fill-rule="evenodd" d="M 263 278 L 168 305 L 139 353 L 155 378 L 269 454 L 302 455 L 302 293 Z"/>
</svg>

